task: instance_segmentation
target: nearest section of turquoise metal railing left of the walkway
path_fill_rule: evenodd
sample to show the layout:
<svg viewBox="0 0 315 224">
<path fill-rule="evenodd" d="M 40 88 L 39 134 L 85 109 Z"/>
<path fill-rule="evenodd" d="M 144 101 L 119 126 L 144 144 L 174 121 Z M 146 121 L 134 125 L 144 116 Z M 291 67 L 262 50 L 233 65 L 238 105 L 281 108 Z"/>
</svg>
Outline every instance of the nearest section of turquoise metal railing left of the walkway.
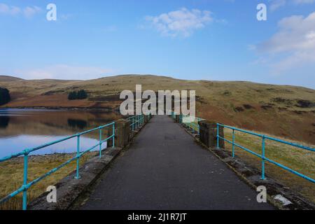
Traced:
<svg viewBox="0 0 315 224">
<path fill-rule="evenodd" d="M 106 139 L 102 139 L 102 130 L 106 127 L 111 127 L 112 129 L 112 133 L 110 137 L 107 137 Z M 90 132 L 94 132 L 99 130 L 99 143 L 96 144 L 95 146 L 92 146 L 91 148 L 88 148 L 86 151 L 82 151 L 80 152 L 80 137 L 83 134 L 87 134 Z M 34 151 L 38 151 L 41 148 L 45 148 L 48 146 L 52 146 L 54 144 L 69 140 L 69 139 L 73 139 L 76 138 L 76 156 L 71 158 L 70 160 L 64 162 L 62 165 L 59 165 L 58 167 L 50 170 L 49 172 L 47 172 L 46 174 L 43 174 L 42 176 L 38 177 L 37 179 L 28 182 L 27 181 L 27 174 L 28 174 L 28 159 L 29 159 L 29 153 L 32 153 Z M 115 122 L 113 123 L 109 123 L 107 125 L 104 126 L 100 126 L 100 127 L 96 127 L 92 130 L 87 130 L 85 132 L 81 132 L 78 134 L 73 134 L 69 137 L 65 137 L 63 139 L 59 139 L 57 141 L 52 141 L 48 144 L 43 144 L 42 146 L 37 146 L 35 148 L 29 148 L 29 149 L 25 149 L 24 151 L 21 151 L 20 153 L 15 153 L 13 155 L 9 155 L 7 157 L 4 158 L 0 158 L 0 162 L 4 162 L 7 160 L 10 160 L 12 158 L 18 158 L 20 156 L 24 157 L 24 170 L 23 170 L 23 184 L 20 188 L 18 188 L 18 190 L 15 190 L 13 193 L 10 193 L 9 195 L 7 195 L 6 197 L 3 197 L 0 200 L 0 204 L 2 204 L 3 202 L 6 202 L 8 200 L 10 200 L 10 198 L 15 197 L 15 195 L 18 195 L 20 193 L 22 193 L 22 209 L 26 210 L 27 209 L 27 190 L 29 188 L 31 188 L 31 186 L 34 186 L 34 184 L 38 183 L 39 181 L 41 181 L 42 179 L 44 179 L 45 177 L 49 176 L 50 174 L 53 174 L 55 172 L 57 172 L 57 170 L 61 169 L 62 167 L 69 165 L 69 163 L 73 162 L 74 160 L 76 160 L 76 175 L 75 178 L 76 179 L 80 179 L 80 174 L 79 174 L 79 165 L 80 165 L 80 158 L 85 155 L 85 153 L 92 151 L 94 148 L 97 148 L 97 146 L 99 146 L 99 157 L 102 157 L 102 144 L 104 144 L 105 141 L 108 141 L 109 139 L 113 139 L 113 147 L 115 147 Z"/>
</svg>

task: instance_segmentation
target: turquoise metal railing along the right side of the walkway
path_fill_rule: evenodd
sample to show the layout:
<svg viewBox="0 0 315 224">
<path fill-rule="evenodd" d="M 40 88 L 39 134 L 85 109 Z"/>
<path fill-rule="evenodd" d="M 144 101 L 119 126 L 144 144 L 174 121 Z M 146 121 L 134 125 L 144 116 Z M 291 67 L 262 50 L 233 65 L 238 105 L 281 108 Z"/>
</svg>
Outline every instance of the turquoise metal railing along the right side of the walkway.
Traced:
<svg viewBox="0 0 315 224">
<path fill-rule="evenodd" d="M 176 113 L 175 112 L 172 112 L 172 118 L 175 119 L 176 117 Z M 183 118 L 185 116 L 183 115 L 180 115 L 180 123 L 182 124 L 183 123 Z M 197 124 L 194 122 L 194 123 L 184 123 L 186 126 L 188 126 L 188 128 L 190 130 L 192 130 L 193 132 L 195 132 L 197 130 L 197 134 L 199 135 L 200 134 L 200 125 L 199 125 L 199 121 L 200 120 L 204 120 L 202 118 L 196 118 L 195 120 L 197 120 Z M 310 147 L 307 147 L 307 146 L 302 146 L 300 144 L 295 144 L 295 143 L 292 143 L 292 142 L 289 142 L 289 141 L 284 141 L 284 140 L 281 140 L 281 139 L 276 139 L 276 138 L 273 138 L 273 137 L 269 137 L 265 134 L 257 134 L 255 132 L 250 132 L 250 131 L 247 131 L 247 130 L 241 130 L 237 127 L 231 127 L 231 126 L 228 126 L 228 125 L 223 125 L 223 124 L 216 124 L 217 125 L 217 134 L 216 134 L 216 138 L 217 138 L 217 148 L 219 148 L 219 139 L 223 139 L 223 141 L 226 141 L 228 142 L 229 144 L 232 144 L 232 157 L 235 158 L 235 146 L 238 147 L 238 148 L 241 148 L 243 149 L 244 151 L 248 152 L 248 153 L 251 153 L 253 155 L 255 155 L 256 157 L 258 158 L 261 158 L 261 168 L 262 168 L 262 173 L 261 173 L 261 179 L 262 180 L 265 180 L 265 162 L 270 162 L 272 163 L 273 165 L 276 165 L 277 167 L 280 167 L 281 169 L 285 169 L 286 171 L 288 172 L 291 172 L 292 174 L 295 174 L 297 176 L 300 176 L 302 177 L 303 179 L 306 179 L 307 181 L 310 181 L 312 183 L 315 183 L 315 180 L 312 179 L 311 177 L 309 176 L 306 176 L 304 174 L 301 174 L 300 172 L 297 172 L 293 169 L 290 169 L 289 167 L 286 167 L 285 165 L 281 165 L 279 162 L 275 162 L 274 160 L 271 160 L 269 158 L 266 157 L 265 155 L 265 141 L 267 139 L 271 140 L 271 141 L 276 141 L 276 142 L 279 142 L 281 144 L 286 144 L 286 145 L 289 145 L 289 146 L 294 146 L 294 147 L 297 147 L 297 148 L 302 148 L 304 150 L 307 150 L 307 151 L 311 151 L 311 152 L 315 152 L 315 148 L 310 148 Z M 221 137 L 220 134 L 219 134 L 219 127 L 225 127 L 225 128 L 228 128 L 230 130 L 232 130 L 232 141 L 228 140 L 228 139 L 225 139 L 224 137 Z M 254 135 L 256 137 L 261 137 L 261 154 L 258 154 L 258 153 L 255 153 L 254 151 L 248 149 L 248 148 L 245 148 L 244 146 L 241 146 L 237 143 L 235 143 L 235 132 L 243 132 L 243 133 L 246 133 L 246 134 L 251 134 L 251 135 Z"/>
</svg>

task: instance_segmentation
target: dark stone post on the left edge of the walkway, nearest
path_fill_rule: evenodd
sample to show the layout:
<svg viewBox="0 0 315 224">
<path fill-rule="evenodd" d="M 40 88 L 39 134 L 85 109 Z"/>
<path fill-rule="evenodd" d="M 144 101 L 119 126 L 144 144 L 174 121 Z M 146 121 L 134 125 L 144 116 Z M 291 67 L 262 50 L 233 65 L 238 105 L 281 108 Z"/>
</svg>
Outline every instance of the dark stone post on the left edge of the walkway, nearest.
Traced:
<svg viewBox="0 0 315 224">
<path fill-rule="evenodd" d="M 116 121 L 115 146 L 124 148 L 130 143 L 130 121 L 120 119 Z"/>
</svg>

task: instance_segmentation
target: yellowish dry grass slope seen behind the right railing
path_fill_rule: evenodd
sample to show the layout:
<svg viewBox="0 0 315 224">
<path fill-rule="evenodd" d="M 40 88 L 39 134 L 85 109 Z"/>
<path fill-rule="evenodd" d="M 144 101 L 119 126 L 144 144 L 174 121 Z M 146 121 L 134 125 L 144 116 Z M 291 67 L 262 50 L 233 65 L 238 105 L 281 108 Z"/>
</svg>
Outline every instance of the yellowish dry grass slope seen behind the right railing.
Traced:
<svg viewBox="0 0 315 224">
<path fill-rule="evenodd" d="M 232 141 L 232 130 L 225 128 L 225 138 Z M 235 132 L 235 143 L 244 146 L 245 148 L 254 151 L 261 155 L 261 143 L 260 137 L 255 137 L 250 134 L 242 132 Z M 279 139 L 279 137 L 278 137 Z M 284 139 L 288 141 L 288 139 Z M 300 142 L 295 142 L 302 144 Z M 314 148 L 314 146 L 310 146 Z M 225 143 L 225 148 L 232 152 L 232 145 Z M 261 171 L 261 159 L 244 151 L 241 148 L 235 146 L 235 155 L 241 160 L 244 160 L 250 165 L 258 168 Z M 293 169 L 301 174 L 309 176 L 311 179 L 315 179 L 315 152 L 307 151 L 304 149 L 296 148 L 286 144 L 281 144 L 276 141 L 266 140 L 265 144 L 265 156 L 270 160 L 279 162 L 281 165 L 285 165 L 290 169 Z M 315 186 L 314 183 L 302 179 L 295 174 L 277 167 L 269 162 L 266 162 L 265 173 L 272 179 L 280 181 L 284 186 L 291 190 L 304 195 L 312 202 L 315 202 Z"/>
</svg>

